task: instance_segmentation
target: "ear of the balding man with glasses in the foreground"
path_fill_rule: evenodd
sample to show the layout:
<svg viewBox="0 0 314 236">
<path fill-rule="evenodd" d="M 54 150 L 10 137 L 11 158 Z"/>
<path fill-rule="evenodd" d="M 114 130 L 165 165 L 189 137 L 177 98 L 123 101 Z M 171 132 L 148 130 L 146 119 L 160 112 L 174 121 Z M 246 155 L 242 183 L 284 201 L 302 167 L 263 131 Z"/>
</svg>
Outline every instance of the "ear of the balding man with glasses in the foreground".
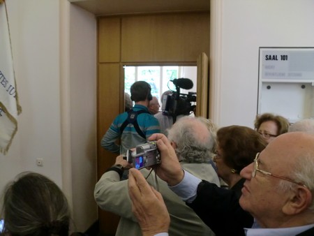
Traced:
<svg viewBox="0 0 314 236">
<path fill-rule="evenodd" d="M 294 215 L 304 212 L 312 203 L 312 193 L 306 186 L 297 186 L 297 189 L 288 193 L 289 198 L 283 205 L 283 213 Z"/>
</svg>

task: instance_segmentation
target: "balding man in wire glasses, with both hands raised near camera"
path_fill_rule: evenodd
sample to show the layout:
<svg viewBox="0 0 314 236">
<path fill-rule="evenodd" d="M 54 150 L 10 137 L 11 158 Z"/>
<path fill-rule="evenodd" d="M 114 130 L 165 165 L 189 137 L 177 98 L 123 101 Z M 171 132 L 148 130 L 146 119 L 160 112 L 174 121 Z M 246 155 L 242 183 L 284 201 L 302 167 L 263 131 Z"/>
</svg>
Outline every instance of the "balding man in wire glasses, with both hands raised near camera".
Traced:
<svg viewBox="0 0 314 236">
<path fill-rule="evenodd" d="M 211 184 L 180 168 L 165 136 L 153 135 L 152 139 L 158 140 L 162 157 L 157 175 L 207 223 L 211 214 L 208 201 L 213 200 Z M 242 196 L 239 202 L 232 196 L 225 202 L 221 227 L 237 225 L 244 230 L 228 235 L 314 235 L 314 135 L 293 132 L 278 136 L 241 170 L 241 176 L 246 179 Z M 130 172 L 129 194 L 143 235 L 167 235 L 169 218 L 163 200 L 137 170 Z M 154 206 L 147 204 L 148 199 Z M 244 212 L 254 216 L 260 228 L 244 226 L 239 221 Z"/>
</svg>

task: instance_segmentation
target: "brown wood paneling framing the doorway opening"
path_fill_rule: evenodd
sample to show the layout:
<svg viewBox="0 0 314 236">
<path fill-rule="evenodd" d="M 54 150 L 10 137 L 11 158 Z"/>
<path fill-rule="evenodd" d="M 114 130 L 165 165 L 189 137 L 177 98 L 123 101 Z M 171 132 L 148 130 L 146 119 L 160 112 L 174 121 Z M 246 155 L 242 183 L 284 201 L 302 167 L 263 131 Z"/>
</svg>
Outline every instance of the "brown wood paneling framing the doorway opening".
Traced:
<svg viewBox="0 0 314 236">
<path fill-rule="evenodd" d="M 115 154 L 100 146 L 113 119 L 124 111 L 124 64 L 196 65 L 209 55 L 209 12 L 98 18 L 98 179 Z M 119 217 L 99 210 L 100 231 L 114 234 Z"/>
</svg>

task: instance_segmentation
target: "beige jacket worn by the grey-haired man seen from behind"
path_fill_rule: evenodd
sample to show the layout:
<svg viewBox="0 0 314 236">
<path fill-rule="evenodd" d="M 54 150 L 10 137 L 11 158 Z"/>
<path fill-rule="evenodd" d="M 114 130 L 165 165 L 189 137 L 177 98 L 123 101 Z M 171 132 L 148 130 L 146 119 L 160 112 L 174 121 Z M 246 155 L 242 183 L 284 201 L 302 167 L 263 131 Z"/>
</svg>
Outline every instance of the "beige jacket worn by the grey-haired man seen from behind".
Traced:
<svg viewBox="0 0 314 236">
<path fill-rule="evenodd" d="M 197 168 L 198 166 L 198 168 Z M 214 168 L 210 164 L 184 164 L 186 171 L 195 174 L 200 179 L 206 179 L 219 186 L 219 179 Z M 195 171 L 200 170 L 197 174 Z M 147 177 L 149 170 L 141 170 L 144 177 Z M 169 235 L 197 235 L 211 236 L 212 231 L 202 222 L 195 214 L 193 209 L 190 209 L 184 201 L 173 193 L 167 186 L 167 183 L 157 178 L 158 187 L 155 181 L 154 172 L 149 175 L 147 182 L 155 187 L 163 195 L 165 204 L 167 205 L 170 214 L 170 229 Z M 114 170 L 105 172 L 96 184 L 94 196 L 98 206 L 107 211 L 121 216 L 116 235 L 119 236 L 137 236 L 142 235 L 140 226 L 138 225 L 135 216 L 132 213 L 132 205 L 128 196 L 128 180 L 120 181 L 119 174 Z"/>
</svg>

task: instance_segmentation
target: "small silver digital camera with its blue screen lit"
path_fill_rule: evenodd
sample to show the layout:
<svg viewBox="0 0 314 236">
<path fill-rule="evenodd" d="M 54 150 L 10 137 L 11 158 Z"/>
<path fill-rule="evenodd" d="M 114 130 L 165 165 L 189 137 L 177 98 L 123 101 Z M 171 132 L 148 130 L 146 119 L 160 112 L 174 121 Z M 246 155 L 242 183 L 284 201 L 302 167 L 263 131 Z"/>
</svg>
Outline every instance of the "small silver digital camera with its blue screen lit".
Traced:
<svg viewBox="0 0 314 236">
<path fill-rule="evenodd" d="M 134 152 L 129 149 L 124 154 L 124 160 L 128 161 L 128 163 L 133 163 L 133 167 L 137 169 L 161 163 L 156 142 L 147 142 L 143 145 L 137 145 Z"/>
</svg>

